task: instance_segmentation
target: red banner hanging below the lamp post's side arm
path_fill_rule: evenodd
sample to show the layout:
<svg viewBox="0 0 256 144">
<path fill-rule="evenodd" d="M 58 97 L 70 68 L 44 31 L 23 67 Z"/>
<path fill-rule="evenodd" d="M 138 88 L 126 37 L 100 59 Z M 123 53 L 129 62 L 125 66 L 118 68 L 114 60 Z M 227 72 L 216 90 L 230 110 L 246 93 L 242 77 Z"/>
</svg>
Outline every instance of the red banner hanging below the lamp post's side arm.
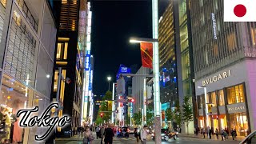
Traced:
<svg viewBox="0 0 256 144">
<path fill-rule="evenodd" d="M 153 43 L 141 42 L 142 66 L 153 69 Z"/>
</svg>

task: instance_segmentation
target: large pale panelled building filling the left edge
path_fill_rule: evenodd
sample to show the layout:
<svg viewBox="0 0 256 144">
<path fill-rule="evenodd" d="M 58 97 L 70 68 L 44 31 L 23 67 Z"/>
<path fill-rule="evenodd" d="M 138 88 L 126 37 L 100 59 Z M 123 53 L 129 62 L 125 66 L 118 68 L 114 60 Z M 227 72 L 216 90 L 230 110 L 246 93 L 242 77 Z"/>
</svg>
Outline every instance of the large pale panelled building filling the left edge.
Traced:
<svg viewBox="0 0 256 144">
<path fill-rule="evenodd" d="M 34 135 L 45 132 L 37 126 L 19 127 L 16 114 L 38 106 L 35 115 L 40 115 L 50 104 L 58 27 L 52 4 L 50 0 L 0 1 L 0 117 L 6 114 L 6 121 L 0 122 L 8 133 L 1 142 L 35 143 Z"/>
</svg>

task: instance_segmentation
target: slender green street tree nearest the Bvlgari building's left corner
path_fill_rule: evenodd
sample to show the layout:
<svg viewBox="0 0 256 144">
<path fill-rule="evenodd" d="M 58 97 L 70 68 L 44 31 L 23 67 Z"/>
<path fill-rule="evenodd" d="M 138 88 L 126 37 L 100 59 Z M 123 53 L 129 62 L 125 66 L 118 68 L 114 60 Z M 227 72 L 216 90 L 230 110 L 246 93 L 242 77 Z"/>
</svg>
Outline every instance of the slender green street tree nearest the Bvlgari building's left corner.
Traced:
<svg viewBox="0 0 256 144">
<path fill-rule="evenodd" d="M 192 104 L 190 96 L 185 96 L 182 105 L 182 121 L 186 123 L 187 134 L 189 134 L 189 124 L 193 120 Z"/>
</svg>

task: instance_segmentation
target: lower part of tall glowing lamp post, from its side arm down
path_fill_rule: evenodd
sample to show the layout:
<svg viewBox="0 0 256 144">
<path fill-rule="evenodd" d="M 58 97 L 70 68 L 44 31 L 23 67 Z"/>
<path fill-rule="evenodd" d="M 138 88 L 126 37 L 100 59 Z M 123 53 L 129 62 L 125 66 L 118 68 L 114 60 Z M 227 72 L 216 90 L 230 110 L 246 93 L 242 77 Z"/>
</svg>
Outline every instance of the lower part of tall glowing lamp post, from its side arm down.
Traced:
<svg viewBox="0 0 256 144">
<path fill-rule="evenodd" d="M 155 4 L 155 3 L 154 3 Z M 161 117 L 160 117 L 160 87 L 159 87 L 159 55 L 158 39 L 155 38 L 130 38 L 131 43 L 152 42 L 153 43 L 153 71 L 154 71 L 154 126 L 155 142 L 161 143 Z"/>
</svg>

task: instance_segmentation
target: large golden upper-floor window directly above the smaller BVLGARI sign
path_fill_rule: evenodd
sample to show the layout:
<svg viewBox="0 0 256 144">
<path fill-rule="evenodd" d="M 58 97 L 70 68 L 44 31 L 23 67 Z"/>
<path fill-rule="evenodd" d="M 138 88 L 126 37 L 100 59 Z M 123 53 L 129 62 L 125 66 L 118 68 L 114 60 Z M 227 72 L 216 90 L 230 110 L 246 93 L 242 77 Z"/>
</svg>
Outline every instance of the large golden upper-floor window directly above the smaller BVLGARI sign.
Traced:
<svg viewBox="0 0 256 144">
<path fill-rule="evenodd" d="M 228 104 L 244 102 L 243 86 L 232 86 L 227 88 Z"/>
</svg>

